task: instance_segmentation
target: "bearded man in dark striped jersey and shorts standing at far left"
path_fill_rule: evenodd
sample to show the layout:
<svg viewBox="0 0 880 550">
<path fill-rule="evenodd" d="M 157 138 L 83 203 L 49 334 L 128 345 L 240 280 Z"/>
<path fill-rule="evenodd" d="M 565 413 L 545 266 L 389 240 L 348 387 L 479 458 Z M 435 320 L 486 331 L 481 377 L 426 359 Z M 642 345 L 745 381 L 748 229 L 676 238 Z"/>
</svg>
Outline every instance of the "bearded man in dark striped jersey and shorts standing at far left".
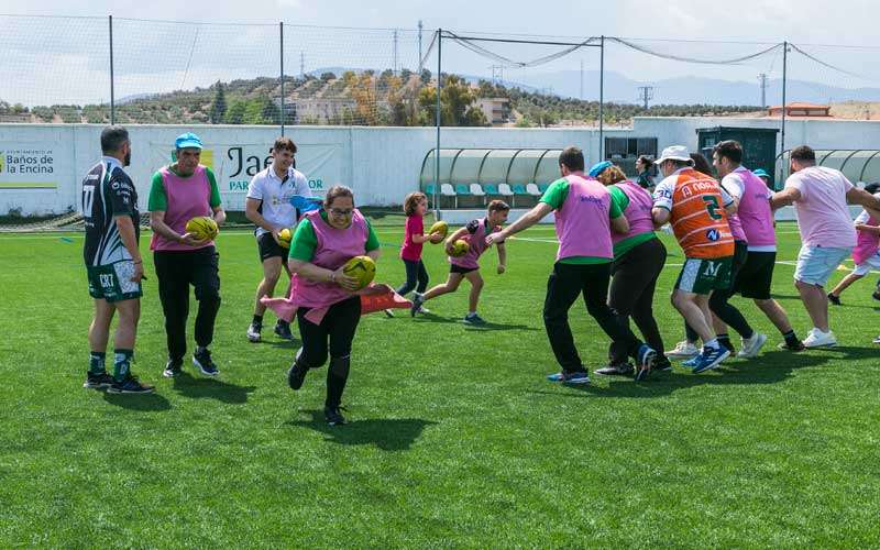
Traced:
<svg viewBox="0 0 880 550">
<path fill-rule="evenodd" d="M 95 299 L 95 319 L 89 327 L 91 355 L 85 387 L 107 388 L 114 394 L 146 394 L 152 386 L 131 374 L 138 319 L 141 315 L 143 260 L 138 249 L 138 191 L 122 169 L 131 162 L 129 132 L 108 127 L 101 132 L 103 157 L 82 179 L 82 217 L 86 243 L 82 256 L 89 295 Z M 105 358 L 110 322 L 119 312 L 113 337 L 113 375 Z"/>
</svg>

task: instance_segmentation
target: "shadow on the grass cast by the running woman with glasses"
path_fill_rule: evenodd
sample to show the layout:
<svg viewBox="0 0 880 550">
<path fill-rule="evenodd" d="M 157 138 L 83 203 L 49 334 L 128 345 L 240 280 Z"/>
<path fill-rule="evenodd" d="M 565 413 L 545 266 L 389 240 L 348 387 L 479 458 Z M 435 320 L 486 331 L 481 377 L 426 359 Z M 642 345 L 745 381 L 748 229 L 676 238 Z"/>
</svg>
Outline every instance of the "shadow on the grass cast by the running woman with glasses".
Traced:
<svg viewBox="0 0 880 550">
<path fill-rule="evenodd" d="M 327 436 L 324 441 L 343 446 L 374 444 L 383 451 L 406 451 L 427 426 L 437 422 L 420 418 L 354 420 L 345 426 L 328 426 L 322 410 L 309 410 L 311 420 L 289 420 L 289 426 L 308 428 Z"/>
</svg>

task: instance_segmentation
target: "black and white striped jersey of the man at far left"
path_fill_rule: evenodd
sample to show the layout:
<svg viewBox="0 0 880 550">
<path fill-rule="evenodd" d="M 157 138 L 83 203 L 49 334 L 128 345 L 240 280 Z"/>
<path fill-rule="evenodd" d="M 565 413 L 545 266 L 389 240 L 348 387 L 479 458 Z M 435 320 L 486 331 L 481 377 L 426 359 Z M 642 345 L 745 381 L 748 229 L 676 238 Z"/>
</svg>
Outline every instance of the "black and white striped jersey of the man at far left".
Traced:
<svg viewBox="0 0 880 550">
<path fill-rule="evenodd" d="M 119 164 L 105 158 L 86 174 L 80 206 L 86 221 L 86 244 L 82 248 L 86 265 L 131 260 L 119 235 L 116 217 L 129 216 L 135 235 L 140 237 L 141 215 L 134 183 Z"/>
</svg>

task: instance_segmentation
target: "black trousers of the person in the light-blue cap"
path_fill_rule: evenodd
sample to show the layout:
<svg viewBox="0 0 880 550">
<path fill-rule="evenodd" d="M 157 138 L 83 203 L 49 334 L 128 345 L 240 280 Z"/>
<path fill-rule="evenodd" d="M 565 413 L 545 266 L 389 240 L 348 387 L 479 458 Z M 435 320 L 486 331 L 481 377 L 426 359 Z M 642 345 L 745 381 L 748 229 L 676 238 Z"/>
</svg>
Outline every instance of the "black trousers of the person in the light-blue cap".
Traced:
<svg viewBox="0 0 880 550">
<path fill-rule="evenodd" d="M 189 285 L 199 302 L 196 314 L 196 344 L 207 348 L 213 340 L 213 324 L 220 310 L 220 255 L 213 246 L 180 251 L 156 251 L 153 263 L 158 279 L 158 298 L 165 314 L 168 359 L 186 354 L 186 320 L 189 316 Z"/>
</svg>

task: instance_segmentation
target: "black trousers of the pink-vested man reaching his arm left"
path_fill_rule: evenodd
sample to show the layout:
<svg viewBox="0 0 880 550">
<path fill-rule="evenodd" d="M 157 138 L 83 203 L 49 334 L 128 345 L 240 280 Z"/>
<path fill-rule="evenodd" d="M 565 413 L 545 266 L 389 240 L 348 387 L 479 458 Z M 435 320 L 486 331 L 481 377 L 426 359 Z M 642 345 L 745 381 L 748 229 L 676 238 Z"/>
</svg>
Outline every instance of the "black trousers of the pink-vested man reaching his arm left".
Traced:
<svg viewBox="0 0 880 550">
<path fill-rule="evenodd" d="M 618 342 L 624 352 L 636 356 L 641 342 L 629 327 L 623 324 L 608 307 L 608 280 L 612 264 L 563 264 L 553 265 L 553 273 L 547 280 L 547 298 L 543 302 L 543 324 L 550 346 L 560 366 L 565 372 L 583 372 L 584 365 L 574 337 L 569 326 L 569 309 L 583 295 L 586 311 L 596 320 L 602 330 L 614 342 Z"/>
</svg>

